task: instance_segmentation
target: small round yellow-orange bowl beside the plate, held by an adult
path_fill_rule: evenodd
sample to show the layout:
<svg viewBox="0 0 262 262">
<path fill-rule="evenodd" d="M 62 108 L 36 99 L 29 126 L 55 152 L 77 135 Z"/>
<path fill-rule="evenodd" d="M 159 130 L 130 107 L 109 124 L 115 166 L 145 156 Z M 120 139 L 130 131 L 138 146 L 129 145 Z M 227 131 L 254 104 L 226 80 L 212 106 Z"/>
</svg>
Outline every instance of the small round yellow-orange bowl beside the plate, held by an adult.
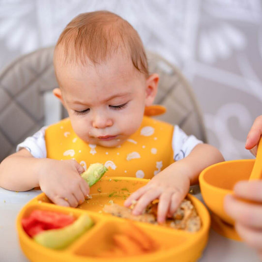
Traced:
<svg viewBox="0 0 262 262">
<path fill-rule="evenodd" d="M 224 222 L 234 221 L 224 210 L 224 198 L 233 194 L 233 186 L 240 180 L 248 180 L 254 166 L 254 159 L 225 161 L 214 164 L 199 176 L 201 193 L 208 208 Z"/>
</svg>

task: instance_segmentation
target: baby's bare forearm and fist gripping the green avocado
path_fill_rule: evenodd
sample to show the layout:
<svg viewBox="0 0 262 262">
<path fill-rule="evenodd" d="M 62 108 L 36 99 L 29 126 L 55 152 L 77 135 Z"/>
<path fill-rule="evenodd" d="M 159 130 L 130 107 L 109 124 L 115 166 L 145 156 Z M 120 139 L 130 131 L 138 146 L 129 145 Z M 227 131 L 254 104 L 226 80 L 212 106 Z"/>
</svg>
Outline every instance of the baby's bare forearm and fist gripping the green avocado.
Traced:
<svg viewBox="0 0 262 262">
<path fill-rule="evenodd" d="M 40 186 L 55 204 L 75 207 L 89 193 L 86 181 L 79 175 L 83 172 L 75 160 L 34 158 L 24 148 L 1 162 L 0 186 L 13 191 Z"/>
</svg>

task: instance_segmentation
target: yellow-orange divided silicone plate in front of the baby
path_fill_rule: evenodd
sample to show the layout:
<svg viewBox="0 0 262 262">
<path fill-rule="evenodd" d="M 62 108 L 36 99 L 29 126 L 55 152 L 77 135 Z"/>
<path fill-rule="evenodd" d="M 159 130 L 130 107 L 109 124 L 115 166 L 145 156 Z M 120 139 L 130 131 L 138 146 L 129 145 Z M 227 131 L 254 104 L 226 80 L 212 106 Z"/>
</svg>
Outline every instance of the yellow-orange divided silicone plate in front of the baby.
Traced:
<svg viewBox="0 0 262 262">
<path fill-rule="evenodd" d="M 197 261 L 201 257 L 208 240 L 210 217 L 204 204 L 190 194 L 188 198 L 195 205 L 202 220 L 200 231 L 189 233 L 164 226 L 135 222 L 160 245 L 159 250 L 145 255 L 124 258 L 96 257 L 100 251 L 109 249 L 113 245 L 112 235 L 122 232 L 125 223 L 127 223 L 127 220 L 123 218 L 101 213 L 103 206 L 112 203 L 112 201 L 115 204 L 122 205 L 132 192 L 144 186 L 147 182 L 147 179 L 142 178 L 103 177 L 91 187 L 92 199 L 85 201 L 78 208 L 55 205 L 49 201 L 44 193 L 40 194 L 23 207 L 17 218 L 17 231 L 23 252 L 33 262 Z M 86 212 L 93 219 L 95 225 L 67 248 L 63 250 L 49 249 L 34 242 L 22 227 L 22 218 L 28 216 L 34 209 L 71 213 L 76 218 Z"/>
</svg>

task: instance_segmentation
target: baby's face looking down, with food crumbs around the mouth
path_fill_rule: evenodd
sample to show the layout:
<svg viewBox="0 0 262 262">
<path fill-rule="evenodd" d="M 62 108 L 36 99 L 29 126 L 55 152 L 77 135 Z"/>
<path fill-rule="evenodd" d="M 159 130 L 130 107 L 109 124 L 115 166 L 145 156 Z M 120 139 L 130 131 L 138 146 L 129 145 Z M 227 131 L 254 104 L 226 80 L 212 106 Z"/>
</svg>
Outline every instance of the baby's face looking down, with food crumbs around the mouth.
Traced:
<svg viewBox="0 0 262 262">
<path fill-rule="evenodd" d="M 148 105 L 146 77 L 130 59 L 61 65 L 56 73 L 72 127 L 88 144 L 119 146 L 140 127 Z"/>
</svg>

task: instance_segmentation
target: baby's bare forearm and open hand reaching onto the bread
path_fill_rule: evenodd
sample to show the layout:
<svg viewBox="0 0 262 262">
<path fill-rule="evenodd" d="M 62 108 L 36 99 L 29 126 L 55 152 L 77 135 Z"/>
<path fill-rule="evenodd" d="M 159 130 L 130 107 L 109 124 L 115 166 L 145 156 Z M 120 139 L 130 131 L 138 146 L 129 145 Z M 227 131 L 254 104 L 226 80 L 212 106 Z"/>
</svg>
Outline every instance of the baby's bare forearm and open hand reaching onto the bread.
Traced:
<svg viewBox="0 0 262 262">
<path fill-rule="evenodd" d="M 125 202 L 126 206 L 138 201 L 133 214 L 141 214 L 146 205 L 159 199 L 157 221 L 163 223 L 172 215 L 189 191 L 189 186 L 198 183 L 198 176 L 204 168 L 224 161 L 223 156 L 213 146 L 199 144 L 191 153 L 171 164 L 155 175 L 146 186 L 133 193 Z"/>
</svg>

